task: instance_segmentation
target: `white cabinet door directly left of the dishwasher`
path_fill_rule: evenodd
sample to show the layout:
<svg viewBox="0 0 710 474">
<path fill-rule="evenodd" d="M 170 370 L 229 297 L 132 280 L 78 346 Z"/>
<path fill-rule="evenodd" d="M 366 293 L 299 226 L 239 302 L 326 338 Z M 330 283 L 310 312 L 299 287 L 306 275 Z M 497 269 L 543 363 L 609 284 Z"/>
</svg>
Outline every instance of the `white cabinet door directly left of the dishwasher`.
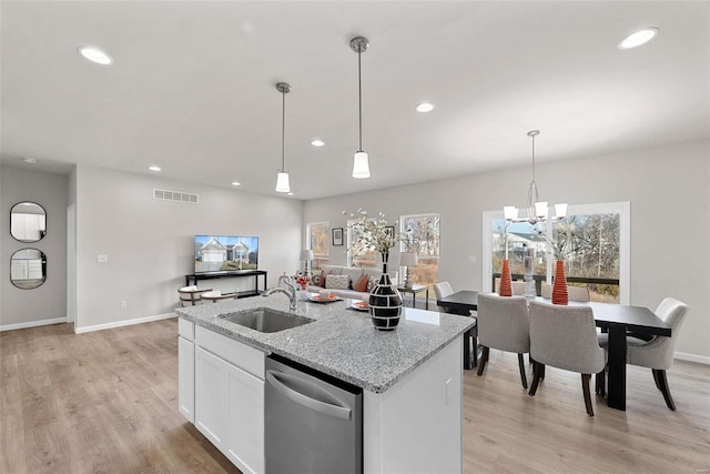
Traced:
<svg viewBox="0 0 710 474">
<path fill-rule="evenodd" d="M 231 365 L 226 456 L 242 472 L 264 472 L 264 381 Z"/>
</svg>

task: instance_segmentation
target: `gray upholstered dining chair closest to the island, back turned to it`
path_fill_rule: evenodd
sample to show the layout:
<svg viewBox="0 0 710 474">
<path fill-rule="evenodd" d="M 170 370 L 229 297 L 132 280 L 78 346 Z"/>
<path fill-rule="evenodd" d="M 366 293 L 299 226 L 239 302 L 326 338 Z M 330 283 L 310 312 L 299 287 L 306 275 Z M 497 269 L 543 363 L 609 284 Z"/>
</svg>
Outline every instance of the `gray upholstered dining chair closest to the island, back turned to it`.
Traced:
<svg viewBox="0 0 710 474">
<path fill-rule="evenodd" d="M 483 375 L 490 356 L 490 349 L 518 354 L 518 367 L 523 387 L 528 387 L 523 354 L 530 352 L 530 325 L 525 296 L 499 296 L 496 293 L 478 294 L 478 343 L 483 355 L 478 375 Z"/>
</svg>

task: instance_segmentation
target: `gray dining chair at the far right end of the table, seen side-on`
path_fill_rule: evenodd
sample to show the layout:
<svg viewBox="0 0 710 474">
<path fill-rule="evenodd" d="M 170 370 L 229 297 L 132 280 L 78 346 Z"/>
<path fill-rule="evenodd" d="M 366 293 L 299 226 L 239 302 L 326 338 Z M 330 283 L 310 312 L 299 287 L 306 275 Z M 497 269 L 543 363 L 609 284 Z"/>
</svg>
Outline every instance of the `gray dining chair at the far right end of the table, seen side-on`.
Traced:
<svg viewBox="0 0 710 474">
<path fill-rule="evenodd" d="M 673 365 L 673 351 L 678 340 L 678 331 L 686 320 L 688 305 L 672 297 L 666 297 L 655 311 L 656 315 L 663 320 L 671 329 L 671 336 L 657 335 L 650 341 L 645 341 L 633 335 L 626 337 L 627 364 L 648 367 L 653 374 L 656 387 L 663 394 L 666 405 L 676 410 L 676 403 L 670 394 L 666 371 Z M 599 334 L 599 345 L 609 346 L 609 334 Z"/>
</svg>

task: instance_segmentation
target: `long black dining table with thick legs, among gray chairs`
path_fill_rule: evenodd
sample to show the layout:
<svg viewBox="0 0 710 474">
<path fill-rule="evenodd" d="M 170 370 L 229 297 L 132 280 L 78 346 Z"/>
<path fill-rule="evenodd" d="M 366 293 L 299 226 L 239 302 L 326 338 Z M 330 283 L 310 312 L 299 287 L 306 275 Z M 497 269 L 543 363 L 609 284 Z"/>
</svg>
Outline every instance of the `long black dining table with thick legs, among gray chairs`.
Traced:
<svg viewBox="0 0 710 474">
<path fill-rule="evenodd" d="M 530 299 L 532 300 L 532 299 Z M 537 296 L 535 301 L 549 303 L 549 299 Z M 447 312 L 470 315 L 478 310 L 478 292 L 463 290 L 436 302 Z M 577 302 L 570 301 L 570 306 L 590 306 L 595 316 L 595 324 L 609 334 L 607 359 L 607 404 L 616 410 L 626 410 L 626 336 L 628 332 L 635 335 L 671 336 L 671 327 L 658 317 L 651 310 L 645 306 L 631 306 L 627 304 Z M 464 347 L 464 366 L 469 355 Z"/>
</svg>

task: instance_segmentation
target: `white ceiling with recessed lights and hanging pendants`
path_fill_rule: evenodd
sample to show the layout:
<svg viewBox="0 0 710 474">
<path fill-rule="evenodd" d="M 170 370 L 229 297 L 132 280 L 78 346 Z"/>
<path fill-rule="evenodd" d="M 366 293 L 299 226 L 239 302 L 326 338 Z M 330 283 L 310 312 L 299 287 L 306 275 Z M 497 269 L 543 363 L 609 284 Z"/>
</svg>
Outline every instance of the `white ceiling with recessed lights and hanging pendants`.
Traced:
<svg viewBox="0 0 710 474">
<path fill-rule="evenodd" d="M 292 199 L 710 138 L 708 1 L 2 1 L 1 160 Z M 617 49 L 653 26 L 652 42 Z M 363 149 L 357 150 L 355 36 Z M 100 47 L 101 67 L 77 53 Z M 430 101 L 427 114 L 414 108 Z M 316 149 L 314 138 L 326 142 Z M 185 189 L 184 191 L 190 191 Z"/>
</svg>

